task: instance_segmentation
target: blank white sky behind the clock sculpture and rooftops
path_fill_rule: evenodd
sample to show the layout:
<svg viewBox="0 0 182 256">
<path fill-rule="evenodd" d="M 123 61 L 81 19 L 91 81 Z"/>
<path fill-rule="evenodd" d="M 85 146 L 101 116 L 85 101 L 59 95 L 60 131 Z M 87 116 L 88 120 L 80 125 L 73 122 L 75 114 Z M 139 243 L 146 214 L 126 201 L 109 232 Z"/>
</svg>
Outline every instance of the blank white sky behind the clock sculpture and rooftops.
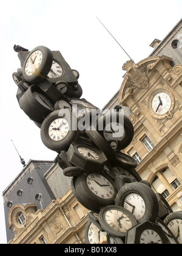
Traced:
<svg viewBox="0 0 182 256">
<path fill-rule="evenodd" d="M 0 10 L 0 191 L 28 162 L 53 160 L 56 152 L 42 144 L 39 128 L 19 108 L 12 73 L 20 68 L 13 45 L 32 51 L 39 45 L 60 51 L 79 71 L 83 98 L 102 108 L 120 89 L 129 57 L 96 19 L 109 29 L 135 63 L 148 57 L 149 44 L 163 38 L 181 19 L 181 0 L 5 0 Z M 0 243 L 6 243 L 4 207 L 0 201 Z"/>
</svg>

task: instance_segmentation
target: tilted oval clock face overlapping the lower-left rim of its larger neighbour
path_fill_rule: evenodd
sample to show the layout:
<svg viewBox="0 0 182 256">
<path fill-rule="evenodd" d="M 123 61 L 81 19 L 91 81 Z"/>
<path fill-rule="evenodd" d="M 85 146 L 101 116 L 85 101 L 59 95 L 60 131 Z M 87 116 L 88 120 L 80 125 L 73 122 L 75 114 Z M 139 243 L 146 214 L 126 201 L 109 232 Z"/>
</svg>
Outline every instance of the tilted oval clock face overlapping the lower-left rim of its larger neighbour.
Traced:
<svg viewBox="0 0 182 256">
<path fill-rule="evenodd" d="M 129 217 L 118 209 L 110 209 L 105 213 L 105 219 L 112 229 L 125 233 L 132 227 Z"/>
</svg>

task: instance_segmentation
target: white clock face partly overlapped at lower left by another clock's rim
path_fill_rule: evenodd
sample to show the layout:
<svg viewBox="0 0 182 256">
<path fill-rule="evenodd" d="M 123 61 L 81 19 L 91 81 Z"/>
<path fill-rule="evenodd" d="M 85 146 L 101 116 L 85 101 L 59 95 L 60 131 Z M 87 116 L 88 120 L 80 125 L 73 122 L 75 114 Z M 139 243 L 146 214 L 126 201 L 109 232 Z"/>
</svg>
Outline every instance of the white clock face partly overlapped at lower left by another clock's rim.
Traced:
<svg viewBox="0 0 182 256">
<path fill-rule="evenodd" d="M 135 216 L 136 221 L 140 221 L 146 212 L 146 204 L 143 198 L 136 193 L 131 193 L 124 199 L 124 208 L 129 210 L 133 216 Z"/>
</svg>

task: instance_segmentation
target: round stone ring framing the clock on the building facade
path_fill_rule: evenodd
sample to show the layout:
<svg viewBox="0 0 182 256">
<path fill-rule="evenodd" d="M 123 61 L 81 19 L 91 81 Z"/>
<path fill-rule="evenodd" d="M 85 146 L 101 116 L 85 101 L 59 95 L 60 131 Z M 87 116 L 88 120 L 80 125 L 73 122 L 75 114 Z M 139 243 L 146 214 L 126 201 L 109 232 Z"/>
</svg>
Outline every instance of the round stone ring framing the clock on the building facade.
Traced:
<svg viewBox="0 0 182 256">
<path fill-rule="evenodd" d="M 167 112 L 170 112 L 172 110 L 174 110 L 174 105 L 175 105 L 175 98 L 174 98 L 174 94 L 169 91 L 167 88 L 165 87 L 160 87 L 160 88 L 157 88 L 155 90 L 152 91 L 152 93 L 150 94 L 149 98 L 148 98 L 148 101 L 147 101 L 147 108 L 151 114 L 151 116 L 155 119 L 163 119 L 166 117 L 166 114 L 167 112 L 163 113 L 163 114 L 158 114 L 157 112 L 155 112 L 152 108 L 152 101 L 153 101 L 153 98 L 155 97 L 156 94 L 158 93 L 166 93 L 169 95 L 170 97 L 170 101 L 171 101 L 171 104 L 170 104 L 170 108 L 169 110 L 167 110 Z"/>
</svg>

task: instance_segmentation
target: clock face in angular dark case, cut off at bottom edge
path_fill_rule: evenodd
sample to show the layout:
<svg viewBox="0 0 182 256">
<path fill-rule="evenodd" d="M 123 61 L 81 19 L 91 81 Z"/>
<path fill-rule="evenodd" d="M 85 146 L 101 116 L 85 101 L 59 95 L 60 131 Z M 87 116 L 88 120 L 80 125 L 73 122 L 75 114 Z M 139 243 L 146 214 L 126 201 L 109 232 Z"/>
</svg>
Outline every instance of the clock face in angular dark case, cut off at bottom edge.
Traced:
<svg viewBox="0 0 182 256">
<path fill-rule="evenodd" d="M 140 244 L 163 244 L 163 241 L 155 230 L 146 229 L 140 235 Z"/>
</svg>

